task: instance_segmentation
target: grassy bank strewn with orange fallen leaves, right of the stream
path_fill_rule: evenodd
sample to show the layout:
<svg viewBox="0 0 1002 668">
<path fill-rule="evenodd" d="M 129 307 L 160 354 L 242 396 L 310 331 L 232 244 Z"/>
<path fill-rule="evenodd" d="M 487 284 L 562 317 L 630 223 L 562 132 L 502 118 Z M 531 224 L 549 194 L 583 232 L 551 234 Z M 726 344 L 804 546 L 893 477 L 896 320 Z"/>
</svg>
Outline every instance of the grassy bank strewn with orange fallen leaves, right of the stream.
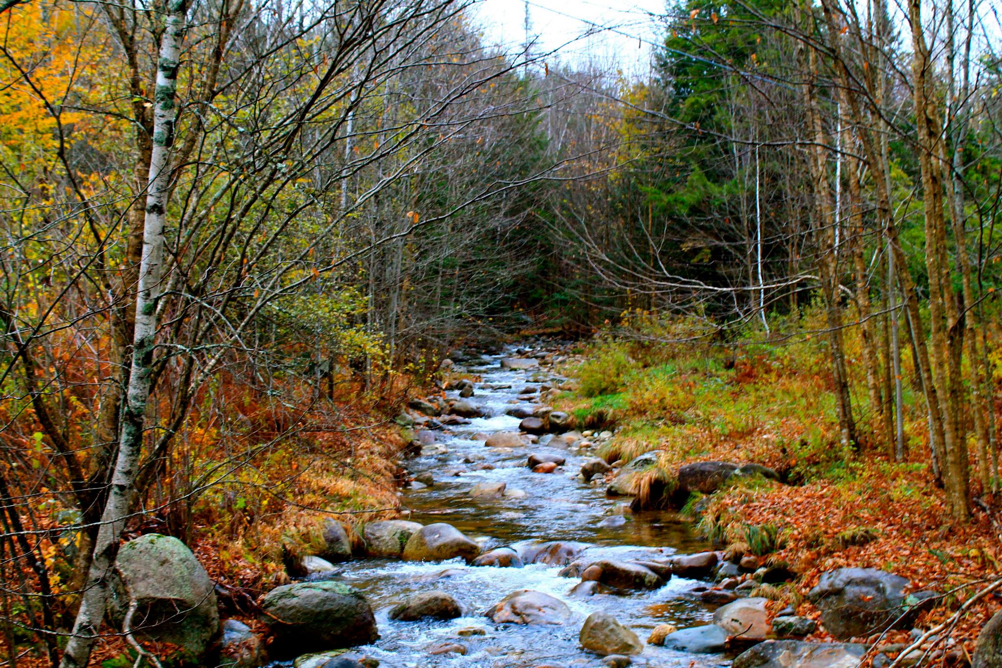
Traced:
<svg viewBox="0 0 1002 668">
<path fill-rule="evenodd" d="M 911 389 L 904 462 L 896 463 L 888 444 L 872 436 L 880 429 L 872 416 L 861 420 L 871 436 L 859 451 L 840 447 L 826 347 L 809 340 L 749 345 L 734 354 L 600 338 L 576 351 L 565 373 L 580 387 L 554 406 L 573 414 L 579 425 L 616 427 L 600 453 L 610 463 L 656 451 L 658 464 L 645 474 L 653 479 L 673 480 L 680 465 L 702 461 L 775 469 L 783 484 L 761 478 L 736 483 L 701 500 L 690 498 L 681 512 L 721 547 L 791 566 L 801 577 L 772 595 L 800 615 L 820 617 L 807 594 L 822 573 L 876 568 L 909 579 L 911 591 L 943 594 L 916 622 L 916 628 L 931 628 L 1000 577 L 998 500 L 983 494 L 972 459 L 973 519 L 950 521 L 930 472 L 927 432 Z M 855 396 L 865 401 L 863 372 L 858 364 L 853 370 Z M 949 651 L 924 665 L 967 665 L 978 632 L 1000 608 L 1002 597 L 980 600 L 951 629 L 955 644 Z M 833 638 L 819 631 L 809 639 Z M 875 646 L 870 659 L 880 649 L 893 658 L 901 643 L 910 642 L 908 631 L 867 640 Z"/>
</svg>

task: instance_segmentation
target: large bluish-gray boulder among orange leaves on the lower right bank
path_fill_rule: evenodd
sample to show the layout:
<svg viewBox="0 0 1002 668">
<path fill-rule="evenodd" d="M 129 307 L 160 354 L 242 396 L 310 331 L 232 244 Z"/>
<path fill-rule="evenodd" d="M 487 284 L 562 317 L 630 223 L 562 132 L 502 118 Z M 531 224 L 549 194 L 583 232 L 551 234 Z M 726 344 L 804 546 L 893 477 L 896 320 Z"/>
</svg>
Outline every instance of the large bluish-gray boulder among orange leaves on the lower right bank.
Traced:
<svg viewBox="0 0 1002 668">
<path fill-rule="evenodd" d="M 821 623 L 839 640 L 888 628 L 909 628 L 921 599 L 908 597 L 905 578 L 874 568 L 840 568 L 821 576 L 808 597 Z"/>
</svg>

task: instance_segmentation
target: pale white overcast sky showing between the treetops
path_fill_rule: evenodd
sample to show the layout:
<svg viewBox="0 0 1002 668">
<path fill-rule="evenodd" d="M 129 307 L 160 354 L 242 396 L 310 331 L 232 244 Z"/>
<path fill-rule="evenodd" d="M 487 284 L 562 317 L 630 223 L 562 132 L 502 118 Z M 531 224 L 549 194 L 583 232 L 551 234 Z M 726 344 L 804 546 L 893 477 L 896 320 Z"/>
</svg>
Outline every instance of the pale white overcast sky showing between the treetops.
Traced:
<svg viewBox="0 0 1002 668">
<path fill-rule="evenodd" d="M 531 32 L 539 44 L 535 52 L 560 48 L 560 59 L 565 62 L 594 58 L 603 64 L 615 63 L 626 72 L 646 71 L 649 42 L 658 35 L 657 22 L 650 14 L 663 12 L 664 4 L 664 0 L 531 0 Z M 474 11 L 488 43 L 521 47 L 524 0 L 480 0 Z M 580 38 L 596 26 L 604 29 Z"/>
</svg>

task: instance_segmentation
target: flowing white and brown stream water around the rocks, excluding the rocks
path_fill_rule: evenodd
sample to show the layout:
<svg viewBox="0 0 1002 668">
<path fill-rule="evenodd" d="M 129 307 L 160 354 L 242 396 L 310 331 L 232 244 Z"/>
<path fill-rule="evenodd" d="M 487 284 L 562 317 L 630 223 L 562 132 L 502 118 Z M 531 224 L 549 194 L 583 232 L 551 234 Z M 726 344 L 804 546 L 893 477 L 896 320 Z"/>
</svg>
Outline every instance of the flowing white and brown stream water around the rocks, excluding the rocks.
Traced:
<svg viewBox="0 0 1002 668">
<path fill-rule="evenodd" d="M 426 446 L 422 454 L 407 461 L 412 475 L 429 472 L 435 484 L 427 489 L 405 490 L 403 505 L 411 520 L 422 524 L 449 523 L 485 549 L 511 546 L 516 551 L 524 545 L 545 541 L 576 541 L 589 545 L 585 561 L 597 559 L 664 559 L 674 553 L 707 549 L 692 535 L 689 526 L 669 513 L 632 514 L 622 498 L 608 498 L 605 486 L 584 484 L 577 477 L 581 463 L 591 452 L 576 452 L 565 447 L 541 445 L 512 449 L 485 447 L 473 440 L 478 433 L 517 431 L 519 420 L 505 415 L 526 386 L 538 388 L 540 379 L 556 378 L 546 368 L 508 371 L 500 367 L 504 357 L 515 357 L 514 350 L 504 355 L 483 358 L 468 371 L 481 377 L 475 395 L 469 401 L 486 409 L 489 417 L 470 421 L 469 425 L 436 432 L 436 444 Z M 536 381 L 536 382 L 533 382 Z M 484 389 L 482 386 L 502 386 Z M 504 388 L 503 386 L 509 386 Z M 447 393 L 455 397 L 454 392 Z M 538 396 L 538 394 L 536 395 Z M 526 467 L 532 453 L 556 454 L 566 464 L 553 474 L 534 474 Z M 483 465 L 491 465 L 486 469 Z M 460 475 L 454 475 L 460 472 Z M 504 482 L 508 489 L 524 490 L 524 498 L 474 500 L 470 489 L 481 482 Z M 610 517 L 623 515 L 625 524 Z M 603 522 L 604 521 L 604 522 Z M 671 578 L 655 591 L 625 595 L 596 594 L 587 598 L 569 596 L 578 578 L 560 577 L 559 566 L 530 564 L 524 568 L 470 567 L 461 559 L 437 563 L 397 560 L 359 560 L 344 564 L 341 578 L 365 593 L 376 611 L 380 639 L 357 651 L 379 659 L 384 667 L 470 666 L 600 666 L 601 657 L 583 650 L 578 632 L 585 617 L 595 611 L 613 615 L 645 639 L 657 624 L 669 623 L 678 628 L 708 621 L 711 611 L 692 589 L 694 580 Z M 393 604 L 421 592 L 439 589 L 451 594 L 462 606 L 464 616 L 450 621 L 397 622 L 388 617 Z M 554 596 L 572 611 L 564 626 L 523 626 L 494 624 L 484 616 L 507 594 L 533 589 Z M 484 635 L 460 637 L 458 631 L 480 627 Z M 430 646 L 458 642 L 467 647 L 465 656 L 430 655 Z M 646 666 L 725 666 L 724 657 L 694 655 L 647 646 L 634 657 L 634 665 Z"/>
</svg>

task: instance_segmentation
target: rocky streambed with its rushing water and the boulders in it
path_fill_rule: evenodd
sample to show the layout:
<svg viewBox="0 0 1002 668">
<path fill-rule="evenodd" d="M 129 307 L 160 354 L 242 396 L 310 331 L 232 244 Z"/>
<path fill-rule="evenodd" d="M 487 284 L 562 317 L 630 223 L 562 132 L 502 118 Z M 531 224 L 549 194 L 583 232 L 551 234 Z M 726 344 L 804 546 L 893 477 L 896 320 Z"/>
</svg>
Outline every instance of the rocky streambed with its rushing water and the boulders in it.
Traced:
<svg viewBox="0 0 1002 668">
<path fill-rule="evenodd" d="M 606 494 L 608 466 L 594 451 L 611 434 L 563 431 L 568 418 L 546 408 L 567 383 L 552 361 L 525 349 L 457 361 L 453 376 L 476 380 L 446 390 L 451 406 L 412 403 L 421 445 L 405 462 L 408 513 L 364 528 L 378 556 L 331 574 L 370 603 L 379 639 L 340 659 L 400 667 L 729 665 L 714 634 L 646 642 L 655 629 L 653 640 L 662 642 L 673 630 L 665 625 L 712 620 L 717 605 L 700 593 L 717 556 L 672 514 L 631 513 L 628 498 Z M 699 556 L 673 572 L 682 554 Z M 368 640 L 367 628 L 357 632 Z M 309 640 L 296 642 L 306 648 Z M 295 665 L 327 661 L 304 656 Z"/>
</svg>

